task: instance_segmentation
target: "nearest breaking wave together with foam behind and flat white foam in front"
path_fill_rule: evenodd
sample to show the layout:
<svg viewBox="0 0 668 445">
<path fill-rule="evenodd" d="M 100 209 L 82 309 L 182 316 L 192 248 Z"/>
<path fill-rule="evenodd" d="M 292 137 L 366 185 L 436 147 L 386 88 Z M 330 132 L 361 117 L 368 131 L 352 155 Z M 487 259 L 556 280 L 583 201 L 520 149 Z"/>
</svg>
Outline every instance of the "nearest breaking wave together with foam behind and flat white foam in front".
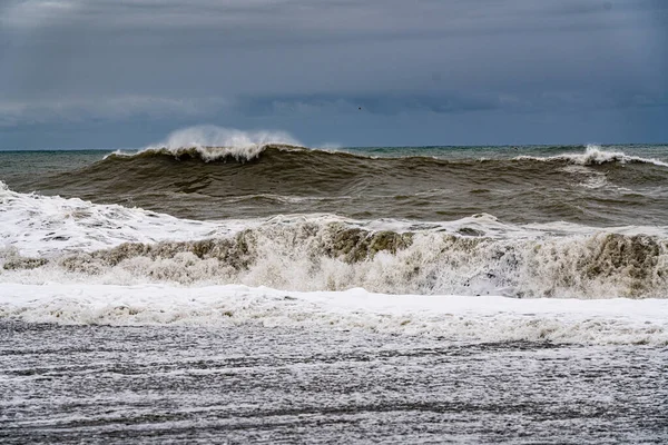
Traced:
<svg viewBox="0 0 668 445">
<path fill-rule="evenodd" d="M 0 318 L 668 345 L 666 227 L 197 221 L 2 182 L 0 219 Z"/>
</svg>

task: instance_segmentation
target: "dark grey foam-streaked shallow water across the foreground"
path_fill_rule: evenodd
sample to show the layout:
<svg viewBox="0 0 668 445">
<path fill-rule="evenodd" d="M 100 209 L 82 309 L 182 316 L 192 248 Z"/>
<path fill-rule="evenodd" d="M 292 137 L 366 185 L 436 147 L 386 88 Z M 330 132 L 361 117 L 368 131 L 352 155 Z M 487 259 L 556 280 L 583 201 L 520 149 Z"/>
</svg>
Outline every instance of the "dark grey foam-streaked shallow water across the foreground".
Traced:
<svg viewBox="0 0 668 445">
<path fill-rule="evenodd" d="M 660 444 L 666 354 L 3 320 L 0 441 Z"/>
</svg>

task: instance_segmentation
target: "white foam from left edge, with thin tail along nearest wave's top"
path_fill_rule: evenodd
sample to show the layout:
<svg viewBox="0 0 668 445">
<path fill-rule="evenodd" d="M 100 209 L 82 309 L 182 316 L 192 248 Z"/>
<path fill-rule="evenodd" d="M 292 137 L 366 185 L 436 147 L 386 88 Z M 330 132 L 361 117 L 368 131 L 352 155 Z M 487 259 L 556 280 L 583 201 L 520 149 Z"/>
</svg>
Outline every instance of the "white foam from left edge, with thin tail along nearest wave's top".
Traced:
<svg viewBox="0 0 668 445">
<path fill-rule="evenodd" d="M 524 237 L 540 228 L 522 229 L 502 224 L 491 215 L 475 215 L 444 224 L 393 219 L 354 221 L 334 215 L 278 215 L 266 219 L 198 221 L 179 219 L 140 208 L 99 205 L 79 198 L 20 194 L 0 181 L 0 248 L 13 248 L 24 256 L 52 256 L 63 251 L 94 251 L 122 243 L 186 241 L 234 235 L 258 226 L 291 226 L 341 222 L 369 230 L 445 230 L 462 227 L 488 235 Z M 564 226 L 566 227 L 566 226 Z M 556 229 L 556 228 L 554 228 Z"/>
</svg>

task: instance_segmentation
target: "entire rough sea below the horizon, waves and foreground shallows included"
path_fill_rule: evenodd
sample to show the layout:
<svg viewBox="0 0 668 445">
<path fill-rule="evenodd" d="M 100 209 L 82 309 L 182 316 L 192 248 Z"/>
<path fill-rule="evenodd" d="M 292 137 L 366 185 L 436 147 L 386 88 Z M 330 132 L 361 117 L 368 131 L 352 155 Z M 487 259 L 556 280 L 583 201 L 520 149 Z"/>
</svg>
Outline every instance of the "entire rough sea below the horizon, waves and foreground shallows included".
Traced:
<svg viewBox="0 0 668 445">
<path fill-rule="evenodd" d="M 205 136 L 0 151 L 3 442 L 668 441 L 668 146 Z"/>
</svg>

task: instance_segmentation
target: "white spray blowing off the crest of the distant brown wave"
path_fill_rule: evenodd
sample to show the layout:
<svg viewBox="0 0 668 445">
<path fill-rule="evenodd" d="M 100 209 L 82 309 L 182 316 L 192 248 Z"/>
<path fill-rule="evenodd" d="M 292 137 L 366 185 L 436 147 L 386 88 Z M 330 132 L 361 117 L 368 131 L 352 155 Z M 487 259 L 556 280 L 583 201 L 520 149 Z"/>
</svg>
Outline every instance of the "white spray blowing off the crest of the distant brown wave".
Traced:
<svg viewBox="0 0 668 445">
<path fill-rule="evenodd" d="M 258 157 L 267 145 L 297 147 L 301 144 L 284 131 L 242 131 L 216 126 L 197 126 L 171 132 L 166 140 L 138 152 L 115 151 L 116 156 L 163 154 L 179 156 L 196 152 L 203 160 L 234 158 L 237 161 Z"/>
</svg>

